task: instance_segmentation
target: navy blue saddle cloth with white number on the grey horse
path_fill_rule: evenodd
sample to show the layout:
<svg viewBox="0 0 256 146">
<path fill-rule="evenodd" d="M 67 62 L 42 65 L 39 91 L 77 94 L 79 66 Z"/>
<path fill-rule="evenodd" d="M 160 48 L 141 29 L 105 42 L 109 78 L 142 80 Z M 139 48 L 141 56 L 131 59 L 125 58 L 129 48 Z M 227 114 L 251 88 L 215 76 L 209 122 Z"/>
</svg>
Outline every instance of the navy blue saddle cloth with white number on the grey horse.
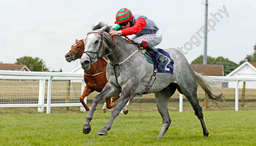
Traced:
<svg viewBox="0 0 256 146">
<path fill-rule="evenodd" d="M 166 57 L 165 62 L 160 67 L 158 67 L 158 61 L 157 61 L 160 58 L 160 56 L 157 54 L 157 52 L 147 51 L 152 56 L 152 59 L 153 59 L 153 62 L 154 62 L 154 64 L 153 64 L 154 65 L 154 71 L 158 67 L 157 72 L 159 72 L 159 73 L 171 73 L 171 74 L 173 74 L 174 61 L 171 59 L 169 53 L 165 52 L 163 49 L 160 49 L 160 48 L 158 48 L 158 51 L 162 55 L 165 55 L 165 57 Z"/>
</svg>

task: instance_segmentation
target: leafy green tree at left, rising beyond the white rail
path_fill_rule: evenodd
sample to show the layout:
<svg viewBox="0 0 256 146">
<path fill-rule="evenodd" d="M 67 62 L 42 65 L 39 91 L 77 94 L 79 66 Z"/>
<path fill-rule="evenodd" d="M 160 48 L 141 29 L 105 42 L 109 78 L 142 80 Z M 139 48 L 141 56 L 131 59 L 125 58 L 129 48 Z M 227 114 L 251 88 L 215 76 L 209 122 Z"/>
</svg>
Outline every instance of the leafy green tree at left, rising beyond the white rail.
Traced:
<svg viewBox="0 0 256 146">
<path fill-rule="evenodd" d="M 17 58 L 15 64 L 17 65 L 26 65 L 30 71 L 42 71 L 42 63 L 44 61 L 39 59 L 38 57 L 33 58 L 30 56 L 23 56 L 21 58 Z M 43 71 L 48 70 L 43 64 Z"/>
</svg>

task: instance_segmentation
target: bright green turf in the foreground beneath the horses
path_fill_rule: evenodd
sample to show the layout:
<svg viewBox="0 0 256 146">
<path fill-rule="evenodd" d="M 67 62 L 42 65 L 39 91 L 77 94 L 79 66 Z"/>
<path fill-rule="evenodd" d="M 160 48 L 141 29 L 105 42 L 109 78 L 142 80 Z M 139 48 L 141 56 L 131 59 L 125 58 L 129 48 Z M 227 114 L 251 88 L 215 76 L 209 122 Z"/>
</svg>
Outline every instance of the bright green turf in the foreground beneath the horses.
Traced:
<svg viewBox="0 0 256 146">
<path fill-rule="evenodd" d="M 77 107 L 69 111 L 52 108 L 51 114 L 37 113 L 36 109 L 1 108 L 0 145 L 83 145 L 86 138 L 89 139 L 85 143 L 93 142 L 90 135 L 98 141 L 94 145 L 256 145 L 255 108 L 203 109 L 208 138 L 204 138 L 194 111 L 169 109 L 172 123 L 162 139 L 157 139 L 162 118 L 155 107 L 147 111 L 143 105 L 135 105 L 127 115 L 118 116 L 116 125 L 103 138 L 97 138 L 96 132 L 108 121 L 111 110 L 101 114 L 97 107 L 91 133 L 85 135 L 82 128 L 87 113 L 81 113 Z"/>
</svg>

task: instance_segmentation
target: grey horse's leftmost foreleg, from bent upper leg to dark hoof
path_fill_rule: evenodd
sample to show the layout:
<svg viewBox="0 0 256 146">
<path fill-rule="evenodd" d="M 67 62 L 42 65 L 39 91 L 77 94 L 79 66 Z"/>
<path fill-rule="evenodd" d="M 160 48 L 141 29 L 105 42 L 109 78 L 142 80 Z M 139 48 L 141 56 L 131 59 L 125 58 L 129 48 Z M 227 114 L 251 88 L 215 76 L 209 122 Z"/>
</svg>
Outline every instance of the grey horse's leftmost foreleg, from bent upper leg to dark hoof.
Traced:
<svg viewBox="0 0 256 146">
<path fill-rule="evenodd" d="M 91 105 L 91 109 L 86 116 L 86 122 L 84 123 L 83 127 L 84 134 L 88 134 L 91 131 L 90 121 L 92 120 L 93 113 L 98 103 L 104 98 L 111 98 L 113 96 L 119 95 L 120 93 L 121 89 L 119 87 L 113 87 L 110 83 L 107 83 L 101 93 L 95 96 Z"/>
</svg>

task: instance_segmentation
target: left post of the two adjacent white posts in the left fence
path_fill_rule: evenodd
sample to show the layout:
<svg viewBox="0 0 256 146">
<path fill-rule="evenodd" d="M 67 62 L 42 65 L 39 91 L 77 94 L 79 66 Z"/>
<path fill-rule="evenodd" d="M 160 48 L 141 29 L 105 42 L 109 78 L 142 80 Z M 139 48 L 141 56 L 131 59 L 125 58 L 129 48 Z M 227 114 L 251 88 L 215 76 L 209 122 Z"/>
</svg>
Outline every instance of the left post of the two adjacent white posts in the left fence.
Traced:
<svg viewBox="0 0 256 146">
<path fill-rule="evenodd" d="M 44 94 L 45 94 L 45 79 L 39 80 L 39 95 L 38 95 L 38 104 L 41 107 L 38 107 L 38 112 L 44 112 Z"/>
</svg>

